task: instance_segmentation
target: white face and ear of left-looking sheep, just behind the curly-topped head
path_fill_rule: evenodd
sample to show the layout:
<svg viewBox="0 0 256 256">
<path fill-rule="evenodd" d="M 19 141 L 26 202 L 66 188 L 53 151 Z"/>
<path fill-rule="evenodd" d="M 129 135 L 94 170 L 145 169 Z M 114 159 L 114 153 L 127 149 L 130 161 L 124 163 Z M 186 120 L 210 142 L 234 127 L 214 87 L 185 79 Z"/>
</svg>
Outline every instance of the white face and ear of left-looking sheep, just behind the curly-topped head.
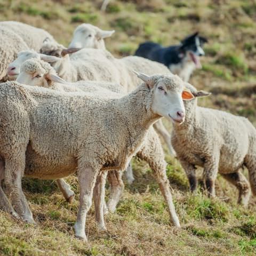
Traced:
<svg viewBox="0 0 256 256">
<path fill-rule="evenodd" d="M 38 60 L 41 59 L 47 62 L 55 62 L 59 60 L 59 58 L 57 57 L 40 54 L 35 51 L 19 52 L 17 59 L 11 62 L 7 69 L 7 75 L 9 76 L 10 80 L 14 80 L 18 77 L 18 75 L 20 74 L 20 68 L 22 63 L 28 59 L 38 59 Z"/>
</svg>

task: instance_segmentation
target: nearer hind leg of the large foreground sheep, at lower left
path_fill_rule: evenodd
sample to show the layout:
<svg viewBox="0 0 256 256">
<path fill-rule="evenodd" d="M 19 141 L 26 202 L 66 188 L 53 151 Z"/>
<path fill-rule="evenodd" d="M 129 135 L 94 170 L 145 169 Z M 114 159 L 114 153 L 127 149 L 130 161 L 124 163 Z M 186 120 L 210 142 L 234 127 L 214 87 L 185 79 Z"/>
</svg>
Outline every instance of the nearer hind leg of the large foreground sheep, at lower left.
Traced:
<svg viewBox="0 0 256 256">
<path fill-rule="evenodd" d="M 23 161 L 22 161 L 23 160 Z M 23 159 L 5 159 L 5 185 L 10 201 L 23 221 L 35 223 L 29 209 L 28 202 L 21 188 L 21 179 L 25 170 L 25 156 Z"/>
</svg>

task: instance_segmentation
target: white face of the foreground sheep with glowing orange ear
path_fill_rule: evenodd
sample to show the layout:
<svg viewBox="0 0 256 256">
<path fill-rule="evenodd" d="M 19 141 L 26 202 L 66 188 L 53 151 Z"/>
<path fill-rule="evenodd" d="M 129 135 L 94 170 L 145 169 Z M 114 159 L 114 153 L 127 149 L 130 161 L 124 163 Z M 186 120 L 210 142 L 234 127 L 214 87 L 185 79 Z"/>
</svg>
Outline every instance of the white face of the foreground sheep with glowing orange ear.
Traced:
<svg viewBox="0 0 256 256">
<path fill-rule="evenodd" d="M 186 90 L 186 99 L 194 99 L 193 94 L 188 89 L 185 89 L 184 82 L 174 75 L 162 76 L 154 75 L 147 76 L 142 73 L 137 73 L 152 90 L 151 109 L 155 114 L 164 116 L 173 123 L 181 124 L 185 120 L 185 107 L 183 98 Z"/>
</svg>

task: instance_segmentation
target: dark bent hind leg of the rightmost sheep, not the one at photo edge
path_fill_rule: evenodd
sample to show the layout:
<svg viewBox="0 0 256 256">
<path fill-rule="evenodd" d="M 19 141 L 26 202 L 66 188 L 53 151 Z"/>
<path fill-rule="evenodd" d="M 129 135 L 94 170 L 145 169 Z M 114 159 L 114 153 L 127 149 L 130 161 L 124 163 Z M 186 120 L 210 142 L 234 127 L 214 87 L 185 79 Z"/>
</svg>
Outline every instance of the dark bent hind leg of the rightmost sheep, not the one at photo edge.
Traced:
<svg viewBox="0 0 256 256">
<path fill-rule="evenodd" d="M 235 185 L 236 188 L 239 190 L 237 203 L 243 206 L 247 206 L 251 196 L 251 190 L 250 190 L 249 182 L 247 181 L 243 173 L 238 171 L 238 172 L 228 173 L 228 174 L 221 173 L 221 175 L 227 181 Z"/>
</svg>

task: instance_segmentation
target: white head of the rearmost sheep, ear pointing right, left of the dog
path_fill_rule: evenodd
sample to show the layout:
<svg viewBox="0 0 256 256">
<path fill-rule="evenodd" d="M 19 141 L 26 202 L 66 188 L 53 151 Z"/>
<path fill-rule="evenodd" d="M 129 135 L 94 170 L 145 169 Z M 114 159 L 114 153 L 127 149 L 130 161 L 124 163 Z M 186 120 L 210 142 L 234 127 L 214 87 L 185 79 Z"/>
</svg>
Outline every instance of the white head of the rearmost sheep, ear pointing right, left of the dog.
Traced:
<svg viewBox="0 0 256 256">
<path fill-rule="evenodd" d="M 113 35 L 115 30 L 101 30 L 91 24 L 82 24 L 74 31 L 71 47 L 105 49 L 104 38 Z"/>
</svg>

